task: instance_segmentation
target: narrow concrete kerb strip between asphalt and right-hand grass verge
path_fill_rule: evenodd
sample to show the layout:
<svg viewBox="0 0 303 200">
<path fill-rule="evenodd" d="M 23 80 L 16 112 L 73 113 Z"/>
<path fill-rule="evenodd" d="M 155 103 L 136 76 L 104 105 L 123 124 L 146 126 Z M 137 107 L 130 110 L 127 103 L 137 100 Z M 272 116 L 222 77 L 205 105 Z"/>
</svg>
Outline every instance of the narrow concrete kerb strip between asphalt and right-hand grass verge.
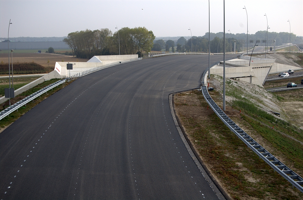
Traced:
<svg viewBox="0 0 303 200">
<path fill-rule="evenodd" d="M 203 177 L 205 178 L 205 180 L 208 182 L 209 186 L 211 187 L 211 189 L 215 192 L 215 194 L 217 195 L 218 199 L 220 200 L 225 200 L 225 197 L 222 195 L 222 193 L 219 191 L 219 189 L 217 188 L 217 186 L 215 185 L 215 183 L 211 180 L 211 178 L 208 176 L 208 174 L 205 172 L 204 168 L 202 167 L 202 165 L 200 164 L 199 160 L 197 159 L 197 157 L 195 156 L 194 152 L 191 150 L 189 144 L 187 143 L 182 131 L 181 131 L 181 128 L 178 124 L 178 121 L 177 121 L 177 118 L 176 118 L 176 115 L 175 115 L 175 112 L 174 112 L 174 108 L 172 106 L 172 95 L 173 94 L 170 94 L 169 95 L 169 107 L 170 107 L 170 110 L 171 110 L 171 115 L 172 115 L 172 118 L 175 122 L 175 126 L 178 130 L 178 133 L 181 137 L 181 140 L 183 141 L 186 149 L 188 150 L 188 153 L 191 155 L 191 158 L 192 160 L 194 160 L 194 162 L 196 163 L 198 169 L 200 170 L 201 174 L 203 175 Z"/>
</svg>

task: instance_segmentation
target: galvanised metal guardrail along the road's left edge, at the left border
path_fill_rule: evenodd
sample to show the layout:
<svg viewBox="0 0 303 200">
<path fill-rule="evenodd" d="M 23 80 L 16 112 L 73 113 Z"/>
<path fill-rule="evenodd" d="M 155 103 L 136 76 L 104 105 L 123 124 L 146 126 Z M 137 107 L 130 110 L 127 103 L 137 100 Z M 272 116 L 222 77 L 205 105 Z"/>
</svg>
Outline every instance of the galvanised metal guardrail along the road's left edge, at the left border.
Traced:
<svg viewBox="0 0 303 200">
<path fill-rule="evenodd" d="M 18 101 L 17 103 L 15 103 L 14 105 L 11 105 L 9 107 L 7 107 L 6 109 L 2 110 L 0 112 L 0 120 L 2 120 L 3 118 L 5 118 L 7 115 L 11 114 L 13 111 L 17 110 L 18 108 L 20 108 L 23 105 L 26 105 L 28 102 L 34 100 L 35 98 L 37 98 L 38 96 L 42 95 L 43 93 L 47 92 L 50 89 L 53 89 L 54 87 L 64 83 L 66 81 L 66 79 L 62 79 L 59 80 L 57 82 L 54 82 L 48 86 L 46 86 L 45 88 L 42 88 L 41 90 L 29 95 L 28 97 L 25 97 L 24 99 L 22 99 L 21 101 Z"/>
</svg>

